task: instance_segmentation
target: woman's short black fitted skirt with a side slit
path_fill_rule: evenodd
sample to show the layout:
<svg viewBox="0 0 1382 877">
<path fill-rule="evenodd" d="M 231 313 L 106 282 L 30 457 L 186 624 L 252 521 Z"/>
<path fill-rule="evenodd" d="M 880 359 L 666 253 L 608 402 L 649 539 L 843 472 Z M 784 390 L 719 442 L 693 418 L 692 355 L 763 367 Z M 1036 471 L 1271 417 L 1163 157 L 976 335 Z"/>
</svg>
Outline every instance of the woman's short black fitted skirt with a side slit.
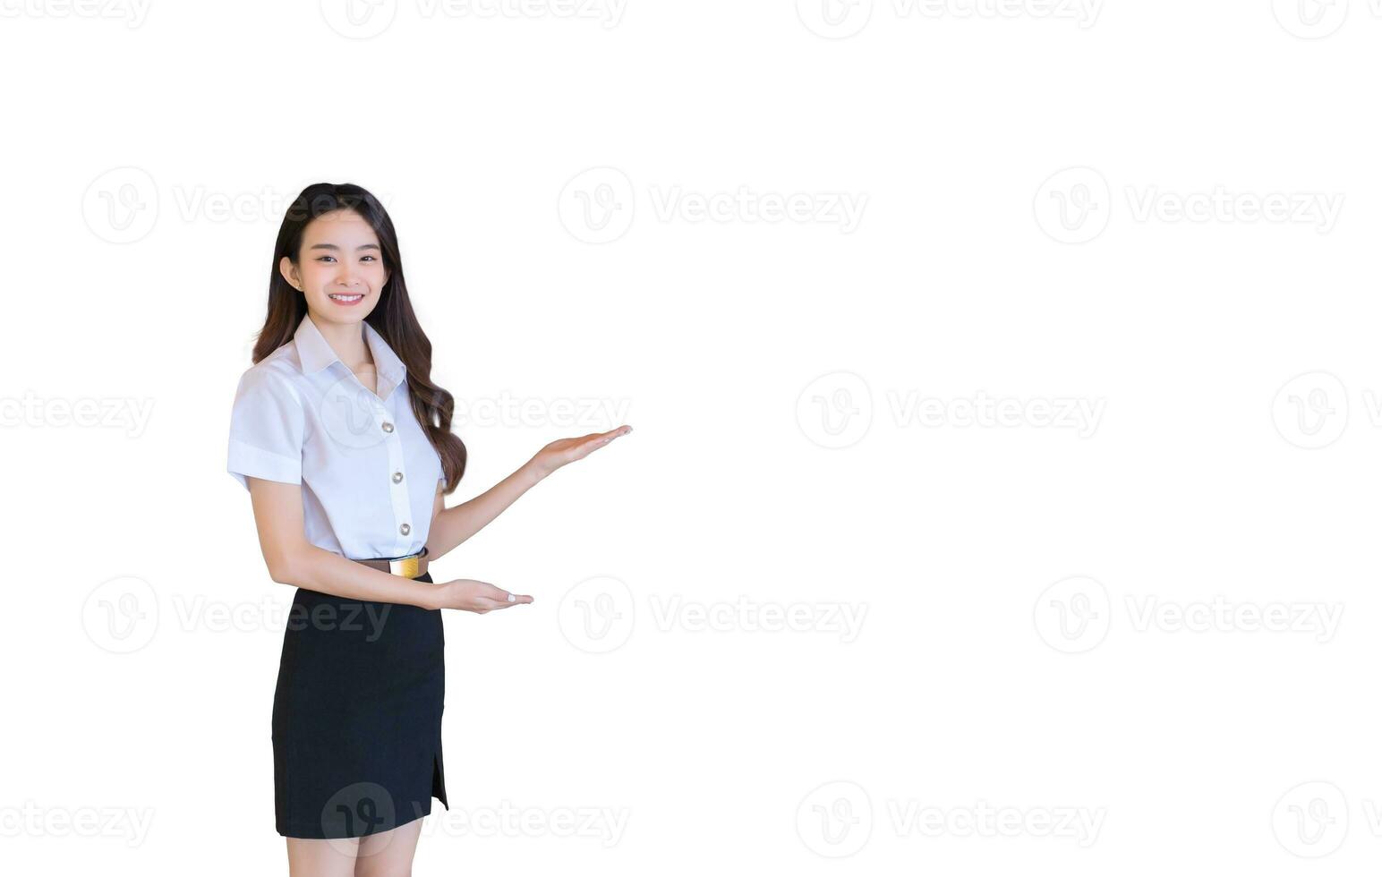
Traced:
<svg viewBox="0 0 1382 877">
<path fill-rule="evenodd" d="M 423 573 L 415 581 L 431 583 Z M 297 588 L 274 691 L 285 837 L 365 837 L 446 804 L 439 609 Z"/>
</svg>

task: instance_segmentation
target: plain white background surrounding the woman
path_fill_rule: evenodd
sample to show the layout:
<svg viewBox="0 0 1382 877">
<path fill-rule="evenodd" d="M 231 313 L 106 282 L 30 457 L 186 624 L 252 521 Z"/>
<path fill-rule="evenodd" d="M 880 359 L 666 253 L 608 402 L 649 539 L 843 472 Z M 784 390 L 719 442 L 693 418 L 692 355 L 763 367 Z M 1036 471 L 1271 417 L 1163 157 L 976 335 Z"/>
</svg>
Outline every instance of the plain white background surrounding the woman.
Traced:
<svg viewBox="0 0 1382 877">
<path fill-rule="evenodd" d="M 434 566 L 536 602 L 446 616 L 416 873 L 1375 869 L 1368 0 L 101 4 L 0 22 L 7 873 L 286 871 L 225 449 L 316 181 L 397 224 L 449 504 L 634 427 Z"/>
</svg>

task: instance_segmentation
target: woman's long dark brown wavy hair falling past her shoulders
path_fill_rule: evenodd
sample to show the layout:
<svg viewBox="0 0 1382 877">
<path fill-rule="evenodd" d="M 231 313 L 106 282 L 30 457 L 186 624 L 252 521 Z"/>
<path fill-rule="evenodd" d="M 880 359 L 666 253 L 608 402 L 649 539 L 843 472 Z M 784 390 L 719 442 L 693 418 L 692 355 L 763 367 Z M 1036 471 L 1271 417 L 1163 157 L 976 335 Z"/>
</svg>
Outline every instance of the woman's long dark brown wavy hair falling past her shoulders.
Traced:
<svg viewBox="0 0 1382 877">
<path fill-rule="evenodd" d="M 379 236 L 388 282 L 384 283 L 379 304 L 365 322 L 373 326 L 404 360 L 413 413 L 417 414 L 417 423 L 427 434 L 427 441 L 441 457 L 442 474 L 446 476 L 445 493 L 451 493 L 466 472 L 466 445 L 451 431 L 456 399 L 431 383 L 431 341 L 427 340 L 427 333 L 419 325 L 413 305 L 408 300 L 394 221 L 388 218 L 379 199 L 368 191 L 350 182 L 314 182 L 289 204 L 283 225 L 278 229 L 278 243 L 274 244 L 274 265 L 268 279 L 268 314 L 254 341 L 254 363 L 292 341 L 299 323 L 307 316 L 307 298 L 283 279 L 278 267 L 285 256 L 294 265 L 299 264 L 299 250 L 303 246 L 303 231 L 307 224 L 333 210 L 351 210 L 359 214 Z"/>
</svg>

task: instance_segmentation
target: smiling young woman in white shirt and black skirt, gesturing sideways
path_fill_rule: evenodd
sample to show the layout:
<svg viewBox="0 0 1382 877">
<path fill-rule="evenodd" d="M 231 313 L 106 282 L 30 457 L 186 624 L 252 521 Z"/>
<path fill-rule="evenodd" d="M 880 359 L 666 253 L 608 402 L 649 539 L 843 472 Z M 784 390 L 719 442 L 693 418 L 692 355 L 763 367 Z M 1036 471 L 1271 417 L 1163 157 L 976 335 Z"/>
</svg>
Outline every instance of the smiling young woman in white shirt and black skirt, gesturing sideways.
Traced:
<svg viewBox="0 0 1382 877">
<path fill-rule="evenodd" d="M 294 876 L 409 873 L 433 797 L 449 809 L 441 610 L 532 602 L 471 579 L 435 584 L 428 561 L 632 431 L 551 442 L 446 508 L 466 470 L 453 407 L 431 383 L 388 214 L 355 185 L 304 189 L 278 232 L 228 465 L 249 489 L 269 577 L 297 587 L 272 715 L 276 827 Z"/>
</svg>

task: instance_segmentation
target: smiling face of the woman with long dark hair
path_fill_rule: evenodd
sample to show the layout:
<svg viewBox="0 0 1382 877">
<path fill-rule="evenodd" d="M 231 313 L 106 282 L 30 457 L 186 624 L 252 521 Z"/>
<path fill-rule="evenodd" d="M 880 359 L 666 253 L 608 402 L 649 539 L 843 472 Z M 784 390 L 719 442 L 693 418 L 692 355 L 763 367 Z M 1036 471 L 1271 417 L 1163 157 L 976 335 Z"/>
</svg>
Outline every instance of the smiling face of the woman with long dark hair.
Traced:
<svg viewBox="0 0 1382 877">
<path fill-rule="evenodd" d="M 278 269 L 303 290 L 316 320 L 358 323 L 388 282 L 379 236 L 354 210 L 333 210 L 308 222 L 297 258 L 294 264 L 285 256 Z"/>
</svg>

